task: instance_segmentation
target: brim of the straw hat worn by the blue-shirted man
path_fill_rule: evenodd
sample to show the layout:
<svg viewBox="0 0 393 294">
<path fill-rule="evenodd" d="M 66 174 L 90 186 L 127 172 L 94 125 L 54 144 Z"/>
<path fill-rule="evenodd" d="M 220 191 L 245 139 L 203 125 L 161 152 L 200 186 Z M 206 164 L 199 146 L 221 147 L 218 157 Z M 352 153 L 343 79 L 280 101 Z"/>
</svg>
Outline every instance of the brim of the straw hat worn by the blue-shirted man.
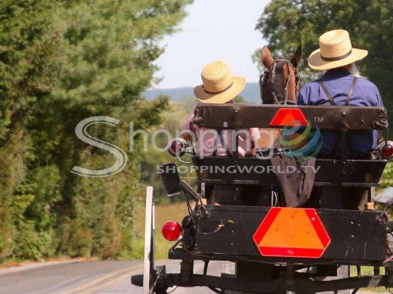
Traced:
<svg viewBox="0 0 393 294">
<path fill-rule="evenodd" d="M 365 58 L 367 54 L 367 50 L 352 48 L 352 53 L 344 59 L 337 61 L 325 61 L 321 58 L 321 49 L 316 49 L 309 56 L 309 67 L 317 71 L 331 70 L 361 60 Z"/>
</svg>

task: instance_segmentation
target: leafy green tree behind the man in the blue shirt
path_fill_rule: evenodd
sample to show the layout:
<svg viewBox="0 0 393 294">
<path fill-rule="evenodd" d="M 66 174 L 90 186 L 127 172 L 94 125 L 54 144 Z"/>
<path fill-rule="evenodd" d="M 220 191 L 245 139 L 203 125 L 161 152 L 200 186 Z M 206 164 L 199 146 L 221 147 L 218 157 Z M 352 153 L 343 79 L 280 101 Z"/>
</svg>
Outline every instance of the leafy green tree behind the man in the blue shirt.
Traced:
<svg viewBox="0 0 393 294">
<path fill-rule="evenodd" d="M 306 57 L 319 47 L 318 38 L 324 32 L 348 30 L 353 46 L 369 52 L 359 62 L 362 73 L 377 85 L 386 106 L 392 108 L 392 10 L 393 0 L 272 0 L 256 29 L 274 55 L 290 56 L 302 44 Z M 305 61 L 303 69 L 309 72 Z"/>
</svg>

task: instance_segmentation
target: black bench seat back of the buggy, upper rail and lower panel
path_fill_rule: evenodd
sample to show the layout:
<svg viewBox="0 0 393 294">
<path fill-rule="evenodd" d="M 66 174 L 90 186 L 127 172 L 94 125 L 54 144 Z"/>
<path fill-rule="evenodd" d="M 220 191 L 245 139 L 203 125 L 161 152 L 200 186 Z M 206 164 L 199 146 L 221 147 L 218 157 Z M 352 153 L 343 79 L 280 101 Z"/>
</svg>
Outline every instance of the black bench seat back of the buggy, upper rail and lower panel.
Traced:
<svg viewBox="0 0 393 294">
<path fill-rule="evenodd" d="M 342 132 L 387 128 L 386 109 L 376 106 L 199 104 L 195 109 L 193 123 L 215 129 L 283 128 L 285 125 L 282 123 L 275 123 L 281 110 L 295 119 L 300 115 L 303 120 L 311 122 L 311 127 L 317 125 L 320 129 Z M 200 182 L 277 184 L 275 172 L 269 170 L 270 160 L 243 158 L 234 154 L 233 157 L 196 156 L 193 163 Z M 387 160 L 347 160 L 346 157 L 342 160 L 317 159 L 314 185 L 378 187 L 386 163 Z"/>
</svg>

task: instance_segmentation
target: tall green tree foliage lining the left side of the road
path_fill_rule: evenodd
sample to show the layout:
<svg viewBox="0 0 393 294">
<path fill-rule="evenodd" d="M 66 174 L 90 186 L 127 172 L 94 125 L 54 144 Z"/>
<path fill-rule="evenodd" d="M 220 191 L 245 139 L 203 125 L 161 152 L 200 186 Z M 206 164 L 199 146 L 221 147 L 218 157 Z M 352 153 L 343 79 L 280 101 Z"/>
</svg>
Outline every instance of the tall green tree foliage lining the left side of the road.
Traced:
<svg viewBox="0 0 393 294">
<path fill-rule="evenodd" d="M 79 141 L 90 127 L 128 150 L 129 122 L 161 122 L 167 98 L 141 97 L 155 82 L 159 41 L 190 0 L 3 0 L 0 2 L 0 261 L 53 255 L 126 255 L 141 191 L 138 154 L 112 177 L 84 178 L 112 154 Z"/>
</svg>

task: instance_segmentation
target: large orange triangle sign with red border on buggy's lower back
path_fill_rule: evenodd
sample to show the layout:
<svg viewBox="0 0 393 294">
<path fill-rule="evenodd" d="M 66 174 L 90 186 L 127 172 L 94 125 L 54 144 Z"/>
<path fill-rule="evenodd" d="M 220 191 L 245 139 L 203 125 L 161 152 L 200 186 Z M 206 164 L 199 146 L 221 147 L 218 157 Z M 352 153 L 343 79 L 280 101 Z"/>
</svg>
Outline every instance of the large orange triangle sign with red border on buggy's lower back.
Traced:
<svg viewBox="0 0 393 294">
<path fill-rule="evenodd" d="M 320 258 L 330 237 L 315 209 L 272 207 L 253 240 L 263 256 Z"/>
</svg>

